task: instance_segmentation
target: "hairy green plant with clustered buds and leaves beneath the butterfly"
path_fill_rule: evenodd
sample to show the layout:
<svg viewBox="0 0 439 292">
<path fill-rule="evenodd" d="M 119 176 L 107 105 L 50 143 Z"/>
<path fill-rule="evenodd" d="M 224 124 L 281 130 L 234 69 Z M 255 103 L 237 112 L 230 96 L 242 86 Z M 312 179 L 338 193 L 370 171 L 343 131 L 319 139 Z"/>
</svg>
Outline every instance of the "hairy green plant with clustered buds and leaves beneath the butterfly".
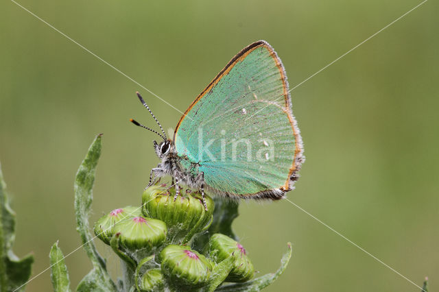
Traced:
<svg viewBox="0 0 439 292">
<path fill-rule="evenodd" d="M 236 202 L 207 196 L 205 210 L 200 193 L 190 190 L 174 202 L 174 186 L 162 182 L 143 193 L 139 206 L 115 208 L 94 225 L 95 235 L 121 259 L 123 275 L 114 282 L 88 225 L 101 149 L 99 135 L 75 178 L 77 230 L 93 263 L 77 291 L 259 291 L 285 271 L 292 254 L 289 243 L 278 271 L 254 278 L 252 262 L 231 228 L 238 216 Z M 58 243 L 50 259 L 55 291 L 70 291 Z"/>
</svg>

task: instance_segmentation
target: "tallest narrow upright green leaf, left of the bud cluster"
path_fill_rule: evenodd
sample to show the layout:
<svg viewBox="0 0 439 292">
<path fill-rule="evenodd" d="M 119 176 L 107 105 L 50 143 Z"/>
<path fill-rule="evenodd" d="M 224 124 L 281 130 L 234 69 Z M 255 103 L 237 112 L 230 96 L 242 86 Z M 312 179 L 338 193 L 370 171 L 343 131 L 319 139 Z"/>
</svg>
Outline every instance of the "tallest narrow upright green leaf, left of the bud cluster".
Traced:
<svg viewBox="0 0 439 292">
<path fill-rule="evenodd" d="M 106 271 L 106 262 L 97 252 L 88 226 L 88 213 L 93 202 L 93 184 L 97 161 L 101 156 L 102 134 L 97 135 L 95 141 L 88 148 L 88 153 L 82 161 L 75 177 L 75 215 L 76 230 L 80 233 L 84 250 L 93 264 L 93 269 L 78 284 L 78 291 L 117 291 L 115 283 Z"/>
</svg>

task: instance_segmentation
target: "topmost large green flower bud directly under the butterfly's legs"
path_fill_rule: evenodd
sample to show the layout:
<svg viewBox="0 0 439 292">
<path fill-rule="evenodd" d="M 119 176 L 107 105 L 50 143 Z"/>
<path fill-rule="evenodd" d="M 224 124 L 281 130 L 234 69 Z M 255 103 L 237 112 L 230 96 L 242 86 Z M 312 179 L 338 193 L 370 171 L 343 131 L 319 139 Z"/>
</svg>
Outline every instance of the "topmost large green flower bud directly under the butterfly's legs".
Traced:
<svg viewBox="0 0 439 292">
<path fill-rule="evenodd" d="M 150 186 L 142 197 L 143 215 L 160 219 L 169 227 L 173 242 L 187 243 L 192 236 L 209 228 L 213 219 L 213 200 L 206 196 L 207 211 L 200 193 L 181 193 L 174 202 L 175 189 Z"/>
</svg>

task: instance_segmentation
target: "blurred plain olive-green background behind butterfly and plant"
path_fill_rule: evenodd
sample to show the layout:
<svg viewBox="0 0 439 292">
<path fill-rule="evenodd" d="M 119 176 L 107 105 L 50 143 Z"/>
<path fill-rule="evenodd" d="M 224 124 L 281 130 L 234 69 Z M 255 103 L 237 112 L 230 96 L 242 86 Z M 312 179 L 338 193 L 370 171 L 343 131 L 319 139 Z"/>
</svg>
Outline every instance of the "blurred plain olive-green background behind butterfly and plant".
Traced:
<svg viewBox="0 0 439 292">
<path fill-rule="evenodd" d="M 184 111 L 240 49 L 264 39 L 290 86 L 305 80 L 420 1 L 19 1 Z M 439 5 L 428 1 L 292 92 L 307 161 L 289 199 L 416 284 L 439 291 Z M 59 240 L 80 245 L 73 178 L 104 133 L 91 222 L 140 204 L 156 165 L 154 126 L 180 113 L 47 27 L 0 3 L 0 160 L 17 213 L 14 250 L 33 274 Z M 235 230 L 255 267 L 287 271 L 267 291 L 419 291 L 286 201 L 244 202 Z M 120 273 L 118 260 L 99 244 Z M 91 268 L 67 258 L 72 287 Z M 49 272 L 27 291 L 51 291 Z"/>
</svg>

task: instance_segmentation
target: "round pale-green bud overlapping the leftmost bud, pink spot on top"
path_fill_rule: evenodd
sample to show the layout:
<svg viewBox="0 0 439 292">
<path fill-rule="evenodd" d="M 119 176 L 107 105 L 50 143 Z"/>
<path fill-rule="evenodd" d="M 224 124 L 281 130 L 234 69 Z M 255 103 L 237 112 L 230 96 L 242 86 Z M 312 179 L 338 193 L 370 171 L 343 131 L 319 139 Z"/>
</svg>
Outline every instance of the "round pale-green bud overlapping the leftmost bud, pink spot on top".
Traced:
<svg viewBox="0 0 439 292">
<path fill-rule="evenodd" d="M 167 228 L 163 221 L 139 216 L 120 221 L 114 232 L 120 233 L 120 245 L 126 250 L 149 252 L 165 241 Z"/>
</svg>

